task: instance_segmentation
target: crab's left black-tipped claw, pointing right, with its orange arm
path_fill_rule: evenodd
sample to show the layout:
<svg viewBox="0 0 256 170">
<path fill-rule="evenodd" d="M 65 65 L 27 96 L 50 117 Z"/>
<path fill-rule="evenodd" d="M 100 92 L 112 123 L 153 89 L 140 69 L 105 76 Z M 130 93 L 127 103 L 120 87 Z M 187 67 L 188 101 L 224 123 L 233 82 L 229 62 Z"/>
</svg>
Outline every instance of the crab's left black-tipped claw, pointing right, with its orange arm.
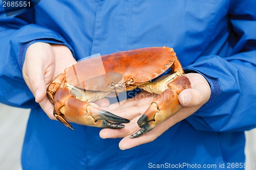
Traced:
<svg viewBox="0 0 256 170">
<path fill-rule="evenodd" d="M 121 123 L 130 120 L 101 110 L 90 103 L 80 101 L 70 94 L 67 87 L 61 87 L 54 95 L 54 116 L 66 127 L 74 130 L 69 122 L 99 128 L 120 129 Z"/>
</svg>

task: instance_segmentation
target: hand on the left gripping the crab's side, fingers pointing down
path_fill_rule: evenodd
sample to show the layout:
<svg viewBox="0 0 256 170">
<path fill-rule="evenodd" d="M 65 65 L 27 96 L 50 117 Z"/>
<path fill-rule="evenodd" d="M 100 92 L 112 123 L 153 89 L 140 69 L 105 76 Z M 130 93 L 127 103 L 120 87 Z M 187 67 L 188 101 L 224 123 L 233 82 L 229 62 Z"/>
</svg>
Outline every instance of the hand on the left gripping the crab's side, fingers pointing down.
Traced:
<svg viewBox="0 0 256 170">
<path fill-rule="evenodd" d="M 35 101 L 51 119 L 53 105 L 46 95 L 48 84 L 65 68 L 74 64 L 71 51 L 65 45 L 37 42 L 28 47 L 23 65 L 23 78 L 35 96 Z"/>
</svg>

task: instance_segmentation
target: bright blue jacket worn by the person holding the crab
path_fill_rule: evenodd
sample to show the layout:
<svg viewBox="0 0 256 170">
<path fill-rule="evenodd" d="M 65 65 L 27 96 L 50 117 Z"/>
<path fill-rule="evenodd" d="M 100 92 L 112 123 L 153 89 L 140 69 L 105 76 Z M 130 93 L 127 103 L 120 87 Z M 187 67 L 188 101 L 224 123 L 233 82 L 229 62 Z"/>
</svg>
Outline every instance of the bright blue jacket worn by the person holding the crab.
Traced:
<svg viewBox="0 0 256 170">
<path fill-rule="evenodd" d="M 9 17 L 0 4 L 0 102 L 32 108 L 24 169 L 223 169 L 245 162 L 244 131 L 256 127 L 256 1 L 52 0 Z M 120 139 L 101 139 L 100 128 L 72 124 L 71 131 L 34 102 L 21 71 L 34 40 L 66 44 L 77 60 L 173 47 L 188 72 L 208 80 L 211 97 L 153 142 L 121 151 Z"/>
</svg>

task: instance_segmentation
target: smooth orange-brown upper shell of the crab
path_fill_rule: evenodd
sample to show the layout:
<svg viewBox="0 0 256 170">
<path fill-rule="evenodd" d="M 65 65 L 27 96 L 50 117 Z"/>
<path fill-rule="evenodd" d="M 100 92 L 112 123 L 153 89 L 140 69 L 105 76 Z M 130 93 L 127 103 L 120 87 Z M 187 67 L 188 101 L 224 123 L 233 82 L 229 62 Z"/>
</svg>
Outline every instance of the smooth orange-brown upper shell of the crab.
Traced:
<svg viewBox="0 0 256 170">
<path fill-rule="evenodd" d="M 122 78 L 125 85 L 127 83 L 144 84 L 163 74 L 169 67 L 173 66 L 176 59 L 173 48 L 165 46 L 139 48 L 101 56 L 103 64 L 101 68 L 97 58 L 78 62 L 66 68 L 65 74 L 67 82 L 73 86 L 101 91 L 109 88 L 111 82 L 118 83 Z M 108 85 L 102 83 L 104 82 L 102 80 L 110 79 L 108 75 L 111 73 L 116 73 L 112 77 L 114 80 L 106 80 Z M 103 79 L 98 79 L 100 77 Z"/>
</svg>

